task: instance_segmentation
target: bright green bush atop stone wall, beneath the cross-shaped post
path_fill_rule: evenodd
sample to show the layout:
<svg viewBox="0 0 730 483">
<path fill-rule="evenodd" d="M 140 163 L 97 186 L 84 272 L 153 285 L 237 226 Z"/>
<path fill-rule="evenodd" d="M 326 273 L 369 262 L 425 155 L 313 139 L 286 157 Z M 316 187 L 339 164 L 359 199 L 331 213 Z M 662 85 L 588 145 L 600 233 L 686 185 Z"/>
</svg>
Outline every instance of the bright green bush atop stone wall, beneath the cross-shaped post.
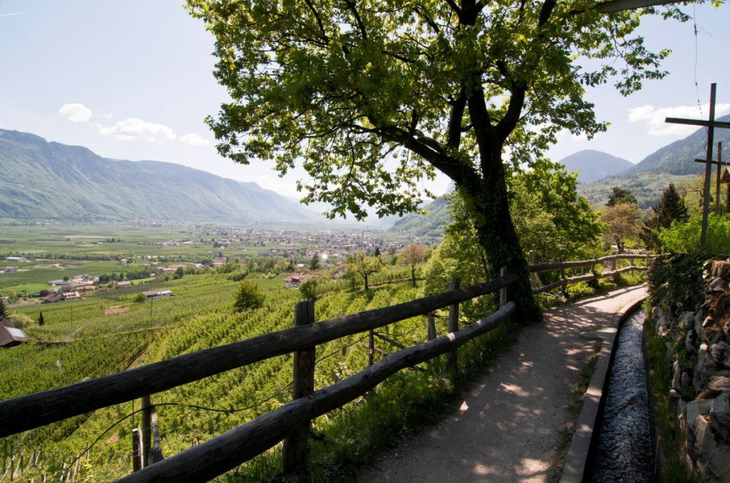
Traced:
<svg viewBox="0 0 730 483">
<path fill-rule="evenodd" d="M 659 232 L 659 241 L 668 251 L 689 253 L 704 251 L 710 254 L 730 252 L 730 216 L 710 213 L 707 218 L 707 243 L 701 246 L 702 216 L 693 216 L 685 223 L 674 221 L 672 227 Z"/>
</svg>

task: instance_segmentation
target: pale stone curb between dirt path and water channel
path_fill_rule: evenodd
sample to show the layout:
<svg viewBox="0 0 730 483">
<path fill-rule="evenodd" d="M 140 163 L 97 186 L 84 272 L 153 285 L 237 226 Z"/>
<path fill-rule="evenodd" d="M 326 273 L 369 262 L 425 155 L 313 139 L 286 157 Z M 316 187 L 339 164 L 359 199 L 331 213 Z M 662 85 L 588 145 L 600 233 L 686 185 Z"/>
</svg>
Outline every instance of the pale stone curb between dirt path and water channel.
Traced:
<svg viewBox="0 0 730 483">
<path fill-rule="evenodd" d="M 593 430 L 598 423 L 603 407 L 605 389 L 608 389 L 607 376 L 617 347 L 616 337 L 623 322 L 626 322 L 631 313 L 642 306 L 646 298 L 645 295 L 626 305 L 616 313 L 617 316 L 611 322 L 610 327 L 605 327 L 598 332 L 602 339 L 601 351 L 596 361 L 596 369 L 591 377 L 591 384 L 588 384 L 588 389 L 585 391 L 583 407 L 580 408 L 580 414 L 575 422 L 575 432 L 565 457 L 560 483 L 580 483 L 588 476 L 585 475 L 585 471 L 588 468 L 588 456 L 591 454 L 593 444 Z"/>
</svg>

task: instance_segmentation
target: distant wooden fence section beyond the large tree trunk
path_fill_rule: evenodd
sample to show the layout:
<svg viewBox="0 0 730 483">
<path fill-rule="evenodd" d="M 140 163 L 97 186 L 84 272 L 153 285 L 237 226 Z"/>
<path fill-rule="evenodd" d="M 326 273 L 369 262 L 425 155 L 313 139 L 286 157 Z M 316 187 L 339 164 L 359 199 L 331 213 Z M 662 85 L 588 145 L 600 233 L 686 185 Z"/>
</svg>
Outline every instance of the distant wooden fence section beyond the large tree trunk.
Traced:
<svg viewBox="0 0 730 483">
<path fill-rule="evenodd" d="M 587 282 L 591 280 L 596 280 L 598 278 L 604 278 L 604 277 L 612 277 L 613 275 L 618 275 L 620 273 L 626 273 L 630 272 L 632 270 L 648 270 L 648 267 L 646 266 L 639 266 L 634 265 L 635 259 L 652 259 L 656 257 L 655 254 L 615 254 L 615 255 L 607 255 L 602 256 L 600 258 L 596 259 L 588 259 L 588 260 L 573 260 L 569 262 L 545 262 L 545 263 L 531 263 L 530 264 L 530 272 L 532 275 L 532 283 L 537 286 L 532 287 L 532 293 L 534 294 L 540 294 L 542 292 L 548 292 L 553 289 L 557 289 L 561 286 L 566 286 L 568 284 L 575 284 L 577 282 Z M 530 253 L 530 258 L 532 258 L 532 253 Z M 629 260 L 629 266 L 623 267 L 623 268 L 617 268 L 616 267 L 616 261 L 627 259 Z M 531 260 L 532 261 L 532 260 Z M 596 265 L 602 265 L 606 262 L 611 262 L 611 269 L 607 270 L 602 273 L 598 273 L 595 270 Z M 591 273 L 584 273 L 585 268 L 590 267 Z M 566 277 L 565 276 L 565 270 L 568 269 L 581 269 L 580 275 L 575 275 L 572 277 Z M 539 276 L 536 276 L 539 272 L 548 272 L 550 270 L 560 270 L 561 278 L 558 281 L 553 282 L 552 284 L 542 285 L 542 283 L 539 281 Z"/>
</svg>

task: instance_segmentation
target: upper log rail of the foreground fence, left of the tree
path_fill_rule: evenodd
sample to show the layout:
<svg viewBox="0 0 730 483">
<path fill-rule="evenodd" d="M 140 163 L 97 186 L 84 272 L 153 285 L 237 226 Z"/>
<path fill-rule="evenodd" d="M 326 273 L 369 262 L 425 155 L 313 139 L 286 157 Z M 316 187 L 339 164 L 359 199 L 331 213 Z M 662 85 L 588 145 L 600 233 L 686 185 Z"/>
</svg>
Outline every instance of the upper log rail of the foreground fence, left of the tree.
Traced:
<svg viewBox="0 0 730 483">
<path fill-rule="evenodd" d="M 495 292 L 515 281 L 518 281 L 517 275 L 507 274 L 484 284 L 450 290 L 411 302 L 341 316 L 316 324 L 270 332 L 245 341 L 184 354 L 91 381 L 4 400 L 0 402 L 2 422 L 0 437 L 142 398 L 270 357 L 318 346 L 345 335 L 377 329 L 393 322 L 424 315 L 448 305 Z"/>
</svg>

